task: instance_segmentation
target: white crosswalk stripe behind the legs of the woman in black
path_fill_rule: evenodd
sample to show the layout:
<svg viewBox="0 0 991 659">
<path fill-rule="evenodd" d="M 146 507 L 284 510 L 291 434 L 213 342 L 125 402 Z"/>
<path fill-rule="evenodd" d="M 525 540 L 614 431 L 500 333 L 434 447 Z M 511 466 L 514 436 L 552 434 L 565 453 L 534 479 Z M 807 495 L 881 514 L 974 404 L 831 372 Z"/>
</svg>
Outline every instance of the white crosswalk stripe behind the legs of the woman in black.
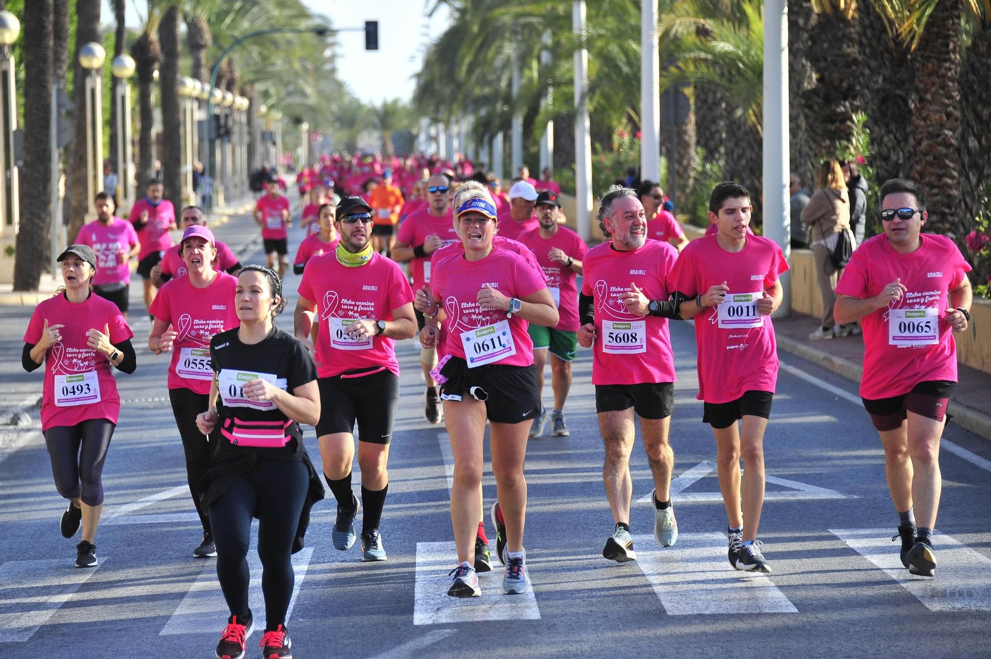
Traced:
<svg viewBox="0 0 991 659">
<path fill-rule="evenodd" d="M 256 530 L 257 533 L 257 530 Z M 292 554 L 292 570 L 296 574 L 295 583 L 292 586 L 292 597 L 289 599 L 289 608 L 285 612 L 285 621 L 288 623 L 292 615 L 292 607 L 296 603 L 296 596 L 299 594 L 299 587 L 306 577 L 306 568 L 309 567 L 310 558 L 313 556 L 313 547 L 306 547 Z M 196 581 L 189 587 L 182 602 L 176 607 L 162 631 L 160 636 L 171 634 L 191 634 L 191 633 L 220 633 L 226 624 L 230 611 L 224 601 L 224 594 L 220 590 L 220 582 L 217 581 L 217 566 L 215 561 L 204 561 L 203 571 Z M 255 628 L 265 629 L 265 597 L 262 594 L 262 559 L 258 557 L 257 541 L 253 541 L 248 548 L 248 569 L 251 572 L 251 585 L 248 590 L 248 606 L 255 616 Z"/>
</svg>

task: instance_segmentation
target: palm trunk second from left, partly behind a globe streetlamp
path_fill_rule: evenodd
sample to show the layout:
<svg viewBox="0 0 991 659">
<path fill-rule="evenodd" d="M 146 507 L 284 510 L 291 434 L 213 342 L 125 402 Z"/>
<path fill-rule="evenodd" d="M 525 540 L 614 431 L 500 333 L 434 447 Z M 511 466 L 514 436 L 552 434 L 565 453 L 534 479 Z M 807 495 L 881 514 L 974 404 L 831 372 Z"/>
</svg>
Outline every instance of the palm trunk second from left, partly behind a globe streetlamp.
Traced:
<svg viewBox="0 0 991 659">
<path fill-rule="evenodd" d="M 76 26 L 75 45 L 72 48 L 74 74 L 72 79 L 72 98 L 75 104 L 75 139 L 72 140 L 69 149 L 69 159 L 66 171 L 68 172 L 68 190 L 66 196 L 69 203 L 69 239 L 75 237 L 86 221 L 86 212 L 89 209 L 90 199 L 86 190 L 86 84 L 85 79 L 90 75 L 89 71 L 82 68 L 78 61 L 79 48 L 89 42 L 103 43 L 103 33 L 100 31 L 100 0 L 76 0 L 75 4 Z M 97 74 L 100 71 L 96 71 Z M 101 94 L 102 98 L 102 94 Z M 94 166 L 100 173 L 102 180 L 103 163 L 96 162 Z M 100 186 L 103 187 L 102 185 Z M 99 192 L 97 190 L 96 192 Z M 95 192 L 94 192 L 95 194 Z"/>
</svg>

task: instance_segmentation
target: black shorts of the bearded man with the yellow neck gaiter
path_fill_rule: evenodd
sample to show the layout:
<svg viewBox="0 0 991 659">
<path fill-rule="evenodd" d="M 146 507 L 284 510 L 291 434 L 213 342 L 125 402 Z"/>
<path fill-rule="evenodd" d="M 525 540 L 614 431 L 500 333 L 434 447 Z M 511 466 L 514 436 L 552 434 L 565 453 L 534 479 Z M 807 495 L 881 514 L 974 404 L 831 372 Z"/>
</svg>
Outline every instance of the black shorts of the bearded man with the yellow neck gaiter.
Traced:
<svg viewBox="0 0 991 659">
<path fill-rule="evenodd" d="M 395 410 L 399 404 L 399 378 L 383 367 L 348 371 L 317 378 L 320 388 L 320 421 L 316 436 L 355 431 L 358 440 L 387 444 L 392 439 Z"/>
</svg>

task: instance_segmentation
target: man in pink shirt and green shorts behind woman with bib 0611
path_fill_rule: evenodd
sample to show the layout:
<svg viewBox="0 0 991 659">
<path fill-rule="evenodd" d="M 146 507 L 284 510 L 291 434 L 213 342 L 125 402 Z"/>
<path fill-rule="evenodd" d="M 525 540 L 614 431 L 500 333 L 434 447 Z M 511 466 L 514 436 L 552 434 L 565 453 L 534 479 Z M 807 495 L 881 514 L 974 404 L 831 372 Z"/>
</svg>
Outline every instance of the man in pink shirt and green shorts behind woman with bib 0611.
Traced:
<svg viewBox="0 0 991 659">
<path fill-rule="evenodd" d="M 537 391 L 543 396 L 544 366 L 547 355 L 551 361 L 551 387 L 554 391 L 553 411 L 541 404 L 540 418 L 530 427 L 530 438 L 543 434 L 544 425 L 551 421 L 551 434 L 563 437 L 570 434 L 564 423 L 564 404 L 571 389 L 571 362 L 578 352 L 578 288 L 575 276 L 582 273 L 582 259 L 588 246 L 578 234 L 560 226 L 561 202 L 556 192 L 541 192 L 536 203 L 540 229 L 519 236 L 536 256 L 547 287 L 558 307 L 560 321 L 557 327 L 544 328 L 530 325 L 533 339 L 533 365 L 537 370 Z"/>
</svg>

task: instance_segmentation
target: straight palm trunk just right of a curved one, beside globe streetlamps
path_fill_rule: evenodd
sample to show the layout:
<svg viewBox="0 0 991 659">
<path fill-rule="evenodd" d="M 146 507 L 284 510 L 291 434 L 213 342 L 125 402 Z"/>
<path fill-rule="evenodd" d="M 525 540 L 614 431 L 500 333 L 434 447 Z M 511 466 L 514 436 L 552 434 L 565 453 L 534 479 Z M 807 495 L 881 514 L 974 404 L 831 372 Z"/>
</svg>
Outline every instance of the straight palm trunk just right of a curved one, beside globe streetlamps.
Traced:
<svg viewBox="0 0 991 659">
<path fill-rule="evenodd" d="M 165 10 L 159 25 L 159 43 L 162 45 L 162 66 L 159 83 L 162 85 L 162 173 L 165 199 L 176 209 L 185 204 L 182 200 L 182 119 L 179 108 L 179 13 L 173 5 Z"/>
</svg>

